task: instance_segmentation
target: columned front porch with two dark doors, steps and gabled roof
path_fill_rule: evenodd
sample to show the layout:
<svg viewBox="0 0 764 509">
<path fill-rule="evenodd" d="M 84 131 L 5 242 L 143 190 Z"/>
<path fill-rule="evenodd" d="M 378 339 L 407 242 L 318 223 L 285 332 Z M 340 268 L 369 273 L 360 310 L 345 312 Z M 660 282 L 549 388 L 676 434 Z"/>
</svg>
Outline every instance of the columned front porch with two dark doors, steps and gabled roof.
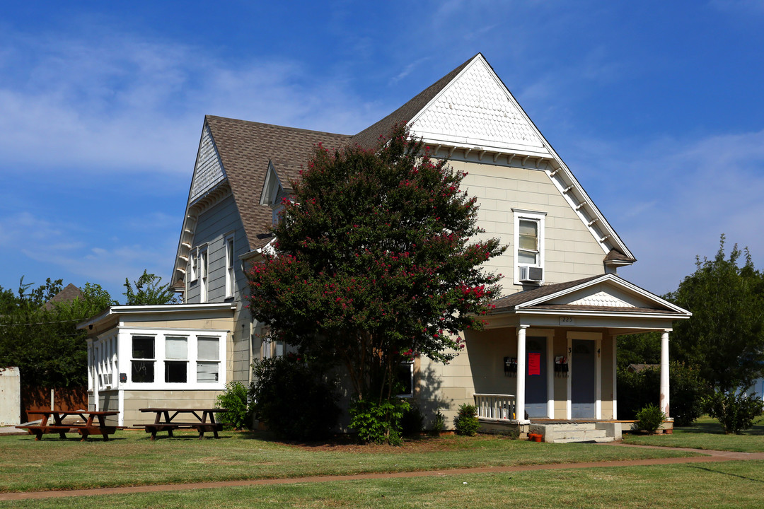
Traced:
<svg viewBox="0 0 764 509">
<path fill-rule="evenodd" d="M 617 417 L 617 337 L 650 330 L 662 333 L 656 403 L 670 416 L 669 332 L 687 311 L 612 274 L 494 305 L 485 330 L 465 334 L 485 431 L 539 433 L 545 442 L 619 440 L 633 421 Z"/>
</svg>

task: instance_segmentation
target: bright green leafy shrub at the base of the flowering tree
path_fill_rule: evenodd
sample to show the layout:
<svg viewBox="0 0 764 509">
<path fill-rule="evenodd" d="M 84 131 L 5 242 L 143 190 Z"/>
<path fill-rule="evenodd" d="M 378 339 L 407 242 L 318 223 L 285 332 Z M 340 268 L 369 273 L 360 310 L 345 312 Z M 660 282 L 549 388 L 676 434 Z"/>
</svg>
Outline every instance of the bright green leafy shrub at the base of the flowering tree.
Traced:
<svg viewBox="0 0 764 509">
<path fill-rule="evenodd" d="M 401 398 L 381 403 L 369 400 L 353 401 L 350 406 L 350 427 L 357 433 L 361 443 L 389 443 L 400 446 L 403 414 L 409 410 L 409 402 Z"/>
</svg>

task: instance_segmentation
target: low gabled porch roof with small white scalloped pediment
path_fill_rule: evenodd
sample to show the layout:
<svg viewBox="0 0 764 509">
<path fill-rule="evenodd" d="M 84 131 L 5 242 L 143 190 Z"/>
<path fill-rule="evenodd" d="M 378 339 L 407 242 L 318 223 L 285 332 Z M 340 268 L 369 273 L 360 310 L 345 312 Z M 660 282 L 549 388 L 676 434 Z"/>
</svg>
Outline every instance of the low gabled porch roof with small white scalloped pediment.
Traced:
<svg viewBox="0 0 764 509">
<path fill-rule="evenodd" d="M 491 314 L 617 313 L 688 318 L 692 314 L 615 274 L 545 285 L 498 298 Z"/>
</svg>

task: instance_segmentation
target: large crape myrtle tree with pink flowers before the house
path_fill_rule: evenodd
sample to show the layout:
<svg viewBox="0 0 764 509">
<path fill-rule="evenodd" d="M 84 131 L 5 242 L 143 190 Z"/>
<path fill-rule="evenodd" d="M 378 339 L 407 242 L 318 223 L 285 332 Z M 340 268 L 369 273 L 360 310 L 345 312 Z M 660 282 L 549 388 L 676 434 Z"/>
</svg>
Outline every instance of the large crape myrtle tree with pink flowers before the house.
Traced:
<svg viewBox="0 0 764 509">
<path fill-rule="evenodd" d="M 251 312 L 297 355 L 347 369 L 357 401 L 396 395 L 412 356 L 448 362 L 500 292 L 481 264 L 506 249 L 475 240 L 466 174 L 406 127 L 377 147 L 316 153 L 290 182 L 274 252 L 248 272 Z"/>
</svg>

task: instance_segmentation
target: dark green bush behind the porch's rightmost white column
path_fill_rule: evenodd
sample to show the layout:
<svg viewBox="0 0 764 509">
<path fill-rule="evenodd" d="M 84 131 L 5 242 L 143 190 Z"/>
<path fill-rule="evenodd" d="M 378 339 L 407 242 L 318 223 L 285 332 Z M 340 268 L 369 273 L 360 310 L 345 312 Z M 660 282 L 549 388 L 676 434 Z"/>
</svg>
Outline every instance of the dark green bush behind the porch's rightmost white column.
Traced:
<svg viewBox="0 0 764 509">
<path fill-rule="evenodd" d="M 641 408 L 655 404 L 660 396 L 661 372 L 659 368 L 640 372 L 618 370 L 618 418 L 634 419 Z M 689 426 L 703 414 L 703 397 L 707 394 L 698 370 L 679 362 L 669 369 L 670 417 L 674 425 Z"/>
</svg>

